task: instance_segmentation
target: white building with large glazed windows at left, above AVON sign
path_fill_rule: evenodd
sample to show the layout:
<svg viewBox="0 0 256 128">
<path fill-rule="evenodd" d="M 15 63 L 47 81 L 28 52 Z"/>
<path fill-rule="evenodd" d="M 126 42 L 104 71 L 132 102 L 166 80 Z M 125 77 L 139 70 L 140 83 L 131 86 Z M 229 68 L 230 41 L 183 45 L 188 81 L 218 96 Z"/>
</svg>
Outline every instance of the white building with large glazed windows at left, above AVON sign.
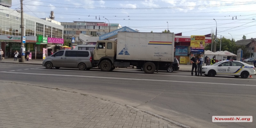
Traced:
<svg viewBox="0 0 256 128">
<path fill-rule="evenodd" d="M 57 21 L 56 21 L 57 22 Z M 37 18 L 24 13 L 24 36 L 36 37 L 36 35 L 43 35 L 48 38 L 63 38 L 64 27 L 45 19 Z M 21 13 L 17 10 L 10 9 L 8 7 L 0 6 L 0 35 L 10 35 L 10 38 L 21 37 Z M 6 37 L 5 37 L 6 38 Z M 35 38 L 36 39 L 36 38 Z M 21 46 L 21 41 L 8 41 L 4 38 L 0 38 L 0 48 L 7 54 L 14 52 L 14 50 L 20 51 L 18 47 Z M 56 44 L 37 45 L 36 40 L 27 41 L 25 44 L 26 50 L 32 51 L 32 56 L 35 57 L 41 55 L 42 48 L 49 48 L 54 51 Z"/>
</svg>

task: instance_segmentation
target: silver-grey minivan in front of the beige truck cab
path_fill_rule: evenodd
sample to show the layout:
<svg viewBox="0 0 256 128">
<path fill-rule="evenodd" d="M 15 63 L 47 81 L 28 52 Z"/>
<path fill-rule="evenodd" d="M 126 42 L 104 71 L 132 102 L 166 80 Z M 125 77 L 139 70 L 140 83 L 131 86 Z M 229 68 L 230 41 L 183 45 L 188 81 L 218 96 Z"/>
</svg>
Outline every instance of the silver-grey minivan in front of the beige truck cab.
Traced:
<svg viewBox="0 0 256 128">
<path fill-rule="evenodd" d="M 93 68 L 93 51 L 87 50 L 60 50 L 43 60 L 46 69 L 53 67 L 79 68 L 90 70 Z"/>
</svg>

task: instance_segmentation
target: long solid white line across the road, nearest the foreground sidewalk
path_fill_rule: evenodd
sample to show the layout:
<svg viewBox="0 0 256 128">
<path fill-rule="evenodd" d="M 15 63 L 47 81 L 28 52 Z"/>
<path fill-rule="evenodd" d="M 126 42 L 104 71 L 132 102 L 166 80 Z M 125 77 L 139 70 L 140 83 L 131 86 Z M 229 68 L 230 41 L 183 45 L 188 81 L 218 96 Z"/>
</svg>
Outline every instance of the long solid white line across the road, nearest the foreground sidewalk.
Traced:
<svg viewBox="0 0 256 128">
<path fill-rule="evenodd" d="M 133 78 L 116 78 L 116 77 L 93 77 L 93 76 L 77 76 L 77 75 L 60 75 L 60 74 L 37 74 L 37 73 L 19 73 L 19 72 L 4 72 L 15 74 L 30 74 L 30 75 L 47 75 L 47 76 L 65 76 L 65 77 L 89 77 L 89 78 L 105 78 L 105 79 L 127 79 L 127 80 L 144 80 L 144 81 L 162 81 L 162 82 L 182 82 L 182 83 L 197 83 L 197 84 L 222 84 L 222 85 L 239 85 L 226 83 L 210 83 L 210 82 L 188 82 L 188 81 L 173 81 L 173 80 L 157 80 L 157 79 L 133 79 Z M 256 86 L 256 85 L 242 85 L 241 86 Z"/>
</svg>

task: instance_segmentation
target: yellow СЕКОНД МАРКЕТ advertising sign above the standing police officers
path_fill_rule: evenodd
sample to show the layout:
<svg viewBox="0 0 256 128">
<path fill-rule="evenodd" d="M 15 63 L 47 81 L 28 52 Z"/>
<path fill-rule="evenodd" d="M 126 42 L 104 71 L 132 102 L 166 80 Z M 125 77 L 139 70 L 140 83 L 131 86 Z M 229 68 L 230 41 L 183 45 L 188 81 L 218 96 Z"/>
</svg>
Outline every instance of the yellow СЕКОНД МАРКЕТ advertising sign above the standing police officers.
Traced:
<svg viewBox="0 0 256 128">
<path fill-rule="evenodd" d="M 205 48 L 205 35 L 191 35 L 190 46 L 194 48 Z"/>
</svg>

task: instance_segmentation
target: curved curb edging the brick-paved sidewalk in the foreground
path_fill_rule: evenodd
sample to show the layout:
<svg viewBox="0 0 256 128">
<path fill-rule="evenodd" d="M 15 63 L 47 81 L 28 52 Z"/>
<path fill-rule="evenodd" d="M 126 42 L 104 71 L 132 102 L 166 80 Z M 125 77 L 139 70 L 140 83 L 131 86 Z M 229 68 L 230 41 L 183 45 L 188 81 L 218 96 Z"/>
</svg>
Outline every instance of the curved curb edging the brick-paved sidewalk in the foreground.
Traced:
<svg viewBox="0 0 256 128">
<path fill-rule="evenodd" d="M 2 81 L 0 81 L 0 82 L 2 82 Z M 29 84 L 16 83 L 16 82 L 5 82 L 5 83 L 15 83 L 15 84 L 21 84 L 21 85 L 29 85 Z M 77 93 L 77 92 L 75 92 L 75 91 L 65 90 L 65 89 L 61 89 L 61 88 L 53 88 L 53 87 L 41 86 L 41 85 L 29 85 L 29 86 L 36 86 L 36 87 L 41 87 L 41 88 L 50 88 L 50 89 L 56 89 L 56 90 L 62 90 L 62 91 L 68 91 L 68 92 L 72 92 L 72 93 Z M 78 94 L 85 95 L 85 96 L 91 96 L 91 95 L 86 95 L 86 94 L 82 94 L 82 93 L 78 93 Z M 94 98 L 96 98 L 96 99 L 99 99 L 98 97 L 95 97 L 95 96 L 92 96 L 92 97 L 94 97 Z M 103 100 L 103 99 L 101 99 L 101 100 Z M 126 105 L 126 104 L 123 104 L 123 103 L 120 103 L 120 102 L 115 102 L 115 101 L 112 101 L 112 100 L 109 100 L 109 102 L 116 103 L 116 104 L 120 104 L 120 105 L 126 106 L 126 107 L 130 107 L 130 108 L 135 109 L 135 110 L 137 110 L 137 111 L 142 111 L 142 112 L 147 113 L 147 114 L 149 114 L 149 115 L 152 115 L 152 116 L 155 116 L 155 117 L 157 117 L 157 118 L 163 119 L 163 120 L 168 121 L 168 122 L 171 122 L 171 123 L 173 123 L 173 124 L 176 124 L 176 125 L 178 125 L 178 126 L 180 126 L 180 127 L 182 127 L 182 128 L 191 128 L 191 127 L 189 127 L 189 126 L 186 126 L 186 125 L 181 124 L 181 123 L 179 123 L 179 122 L 173 121 L 173 120 L 168 119 L 168 118 L 166 118 L 166 117 L 163 117 L 163 116 L 161 116 L 161 115 L 157 115 L 157 114 L 155 114 L 155 113 L 152 113 L 152 112 L 150 112 L 150 111 L 138 109 L 138 108 L 136 108 L 136 107 L 132 107 L 132 106 L 129 106 L 129 105 Z"/>
</svg>

